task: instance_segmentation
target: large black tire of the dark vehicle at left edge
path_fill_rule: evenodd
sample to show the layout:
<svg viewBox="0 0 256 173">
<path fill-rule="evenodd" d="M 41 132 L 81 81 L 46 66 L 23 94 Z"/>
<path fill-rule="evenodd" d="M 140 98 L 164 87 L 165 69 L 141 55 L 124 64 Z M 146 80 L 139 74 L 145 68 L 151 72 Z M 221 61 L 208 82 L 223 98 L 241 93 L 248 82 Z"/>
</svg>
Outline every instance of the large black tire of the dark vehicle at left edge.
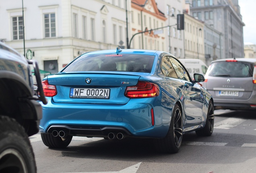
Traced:
<svg viewBox="0 0 256 173">
<path fill-rule="evenodd" d="M 36 173 L 35 155 L 24 128 L 0 115 L 0 173 Z"/>
</svg>

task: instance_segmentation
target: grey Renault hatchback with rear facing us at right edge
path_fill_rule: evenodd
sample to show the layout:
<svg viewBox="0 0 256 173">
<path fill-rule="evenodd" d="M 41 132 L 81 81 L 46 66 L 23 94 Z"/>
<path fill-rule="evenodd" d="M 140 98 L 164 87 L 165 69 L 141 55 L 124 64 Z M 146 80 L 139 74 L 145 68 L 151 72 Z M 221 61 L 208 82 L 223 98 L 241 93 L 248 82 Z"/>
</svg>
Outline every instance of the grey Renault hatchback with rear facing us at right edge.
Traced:
<svg viewBox="0 0 256 173">
<path fill-rule="evenodd" d="M 256 59 L 211 62 L 203 86 L 213 95 L 215 109 L 256 111 Z"/>
</svg>

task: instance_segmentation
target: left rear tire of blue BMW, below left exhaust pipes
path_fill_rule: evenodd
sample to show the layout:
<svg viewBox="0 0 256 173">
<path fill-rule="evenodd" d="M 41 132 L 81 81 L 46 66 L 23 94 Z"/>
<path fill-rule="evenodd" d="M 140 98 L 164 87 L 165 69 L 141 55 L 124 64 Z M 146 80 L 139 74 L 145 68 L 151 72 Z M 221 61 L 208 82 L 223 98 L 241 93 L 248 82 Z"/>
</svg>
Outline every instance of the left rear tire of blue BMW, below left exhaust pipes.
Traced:
<svg viewBox="0 0 256 173">
<path fill-rule="evenodd" d="M 47 147 L 50 148 L 66 148 L 70 144 L 73 136 L 54 137 L 52 134 L 41 133 L 41 138 Z"/>
</svg>

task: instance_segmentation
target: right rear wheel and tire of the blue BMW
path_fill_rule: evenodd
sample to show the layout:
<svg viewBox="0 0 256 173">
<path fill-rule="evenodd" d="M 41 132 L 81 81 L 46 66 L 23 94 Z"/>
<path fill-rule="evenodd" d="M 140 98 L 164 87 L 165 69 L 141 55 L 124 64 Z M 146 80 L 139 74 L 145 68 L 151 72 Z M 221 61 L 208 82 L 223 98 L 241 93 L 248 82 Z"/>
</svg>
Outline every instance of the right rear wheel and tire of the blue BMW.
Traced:
<svg viewBox="0 0 256 173">
<path fill-rule="evenodd" d="M 182 135 L 182 112 L 180 107 L 175 105 L 167 135 L 163 139 L 155 139 L 155 147 L 158 151 L 163 153 L 177 153 L 182 144 Z"/>
</svg>

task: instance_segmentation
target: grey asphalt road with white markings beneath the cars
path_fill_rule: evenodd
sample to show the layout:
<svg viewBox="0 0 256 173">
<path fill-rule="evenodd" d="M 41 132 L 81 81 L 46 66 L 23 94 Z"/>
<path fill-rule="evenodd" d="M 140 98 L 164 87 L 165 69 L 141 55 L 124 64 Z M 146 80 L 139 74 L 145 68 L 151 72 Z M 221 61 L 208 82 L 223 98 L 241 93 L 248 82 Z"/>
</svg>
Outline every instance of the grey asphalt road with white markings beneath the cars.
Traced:
<svg viewBox="0 0 256 173">
<path fill-rule="evenodd" d="M 151 140 L 74 137 L 66 149 L 30 140 L 38 173 L 256 173 L 256 112 L 216 110 L 213 135 L 184 135 L 176 154 Z"/>
</svg>

